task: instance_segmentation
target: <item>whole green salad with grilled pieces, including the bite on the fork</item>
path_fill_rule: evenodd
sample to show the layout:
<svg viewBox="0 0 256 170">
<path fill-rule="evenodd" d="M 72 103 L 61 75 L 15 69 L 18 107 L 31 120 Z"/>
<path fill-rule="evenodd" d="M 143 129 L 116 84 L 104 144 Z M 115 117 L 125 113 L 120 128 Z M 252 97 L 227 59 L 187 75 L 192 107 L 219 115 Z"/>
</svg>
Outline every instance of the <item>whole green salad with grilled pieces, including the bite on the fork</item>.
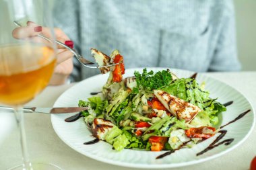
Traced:
<svg viewBox="0 0 256 170">
<path fill-rule="evenodd" d="M 216 134 L 218 116 L 224 105 L 210 97 L 205 84 L 194 78 L 179 78 L 170 70 L 154 73 L 143 69 L 123 79 L 123 56 L 110 56 L 92 49 L 98 65 L 120 63 L 109 72 L 102 93 L 79 100 L 84 122 L 93 136 L 113 145 L 117 151 L 137 148 L 144 151 L 173 151 Z"/>
</svg>

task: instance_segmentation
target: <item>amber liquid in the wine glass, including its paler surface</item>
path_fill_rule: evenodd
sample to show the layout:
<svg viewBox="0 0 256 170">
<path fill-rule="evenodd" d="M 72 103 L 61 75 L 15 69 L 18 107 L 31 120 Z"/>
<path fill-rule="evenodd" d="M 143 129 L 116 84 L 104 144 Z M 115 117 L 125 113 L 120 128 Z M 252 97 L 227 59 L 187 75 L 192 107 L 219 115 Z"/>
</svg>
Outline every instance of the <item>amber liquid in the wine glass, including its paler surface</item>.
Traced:
<svg viewBox="0 0 256 170">
<path fill-rule="evenodd" d="M 23 105 L 46 85 L 55 68 L 53 48 L 28 44 L 0 47 L 0 103 Z"/>
</svg>

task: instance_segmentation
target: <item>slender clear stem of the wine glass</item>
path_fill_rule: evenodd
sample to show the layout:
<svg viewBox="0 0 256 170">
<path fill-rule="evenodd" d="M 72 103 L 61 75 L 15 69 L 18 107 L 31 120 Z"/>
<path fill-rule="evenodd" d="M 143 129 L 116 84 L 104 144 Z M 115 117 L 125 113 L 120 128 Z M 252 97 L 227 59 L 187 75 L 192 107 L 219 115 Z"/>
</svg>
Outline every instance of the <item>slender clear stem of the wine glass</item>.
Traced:
<svg viewBox="0 0 256 170">
<path fill-rule="evenodd" d="M 20 130 L 20 144 L 22 145 L 22 159 L 23 169 L 22 170 L 33 170 L 30 159 L 28 157 L 28 147 L 26 140 L 26 131 L 24 126 L 24 112 L 22 107 L 15 108 L 15 118 Z"/>
</svg>

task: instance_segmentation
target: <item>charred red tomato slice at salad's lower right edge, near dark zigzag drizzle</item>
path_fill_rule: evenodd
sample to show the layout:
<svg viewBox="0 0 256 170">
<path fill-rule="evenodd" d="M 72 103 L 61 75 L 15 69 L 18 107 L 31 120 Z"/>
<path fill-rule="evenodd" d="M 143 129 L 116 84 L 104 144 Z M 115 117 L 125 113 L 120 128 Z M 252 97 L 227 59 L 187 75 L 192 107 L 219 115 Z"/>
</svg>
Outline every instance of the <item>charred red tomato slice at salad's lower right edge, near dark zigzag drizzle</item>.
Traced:
<svg viewBox="0 0 256 170">
<path fill-rule="evenodd" d="M 189 138 L 210 138 L 214 136 L 214 133 L 203 133 L 203 128 L 207 128 L 213 132 L 216 130 L 214 127 L 201 126 L 199 128 L 189 128 L 185 132 Z"/>
</svg>

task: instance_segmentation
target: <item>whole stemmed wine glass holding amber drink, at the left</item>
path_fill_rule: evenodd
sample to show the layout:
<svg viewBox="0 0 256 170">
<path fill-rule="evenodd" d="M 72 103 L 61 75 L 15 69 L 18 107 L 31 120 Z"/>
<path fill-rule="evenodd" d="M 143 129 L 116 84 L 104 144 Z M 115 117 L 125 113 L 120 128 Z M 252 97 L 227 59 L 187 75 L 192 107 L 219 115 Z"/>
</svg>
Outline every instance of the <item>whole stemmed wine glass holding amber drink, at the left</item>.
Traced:
<svg viewBox="0 0 256 170">
<path fill-rule="evenodd" d="M 0 7 L 0 103 L 15 110 L 23 155 L 23 164 L 11 169 L 60 169 L 51 163 L 30 162 L 22 111 L 22 105 L 48 85 L 55 69 L 56 47 L 49 1 L 0 0 Z M 15 28 L 13 22 L 23 27 Z M 51 42 L 36 36 L 42 33 L 47 33 Z"/>
</svg>

